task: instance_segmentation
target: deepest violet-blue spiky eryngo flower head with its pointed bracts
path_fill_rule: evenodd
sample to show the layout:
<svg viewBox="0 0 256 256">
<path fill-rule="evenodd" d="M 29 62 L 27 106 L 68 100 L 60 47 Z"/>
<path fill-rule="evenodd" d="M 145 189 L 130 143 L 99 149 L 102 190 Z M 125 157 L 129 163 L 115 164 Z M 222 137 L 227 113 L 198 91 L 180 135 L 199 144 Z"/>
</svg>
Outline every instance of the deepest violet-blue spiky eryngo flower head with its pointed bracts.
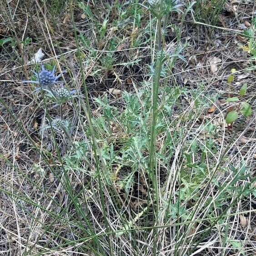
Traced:
<svg viewBox="0 0 256 256">
<path fill-rule="evenodd" d="M 54 75 L 55 73 L 55 67 L 53 69 L 47 70 L 45 69 L 44 65 L 41 65 L 41 71 L 40 72 L 35 72 L 32 71 L 35 74 L 35 81 L 33 80 L 27 80 L 27 81 L 22 81 L 23 83 L 32 83 L 32 84 L 38 84 L 40 85 L 40 88 L 48 88 L 52 85 L 55 85 L 58 82 L 58 79 L 60 75 L 62 75 L 64 72 L 61 72 L 59 75 Z M 40 89 L 38 88 L 38 89 Z M 37 89 L 37 90 L 38 90 Z"/>
</svg>

